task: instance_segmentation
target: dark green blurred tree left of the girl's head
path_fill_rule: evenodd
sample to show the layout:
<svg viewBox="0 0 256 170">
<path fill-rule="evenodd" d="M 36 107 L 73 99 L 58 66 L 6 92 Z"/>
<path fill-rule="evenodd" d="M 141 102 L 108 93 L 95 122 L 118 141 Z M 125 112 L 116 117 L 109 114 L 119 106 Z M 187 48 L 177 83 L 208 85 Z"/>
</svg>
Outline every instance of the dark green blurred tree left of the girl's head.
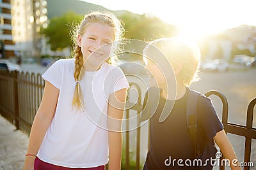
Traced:
<svg viewBox="0 0 256 170">
<path fill-rule="evenodd" d="M 61 50 L 66 47 L 72 47 L 72 27 L 82 19 L 74 11 L 67 11 L 61 17 L 52 17 L 46 29 L 42 29 L 42 34 L 47 38 L 47 43 L 51 50 Z"/>
</svg>

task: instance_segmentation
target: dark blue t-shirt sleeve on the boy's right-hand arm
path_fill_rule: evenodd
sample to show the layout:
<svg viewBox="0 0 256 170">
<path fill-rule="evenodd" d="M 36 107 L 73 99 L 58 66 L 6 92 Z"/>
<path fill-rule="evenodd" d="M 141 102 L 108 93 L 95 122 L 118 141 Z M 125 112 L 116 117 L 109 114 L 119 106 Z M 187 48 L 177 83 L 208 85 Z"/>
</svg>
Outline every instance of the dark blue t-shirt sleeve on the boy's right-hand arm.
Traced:
<svg viewBox="0 0 256 170">
<path fill-rule="evenodd" d="M 208 138 L 213 138 L 217 132 L 224 129 L 209 97 L 198 96 L 197 113 L 198 125 L 202 127 Z"/>
</svg>

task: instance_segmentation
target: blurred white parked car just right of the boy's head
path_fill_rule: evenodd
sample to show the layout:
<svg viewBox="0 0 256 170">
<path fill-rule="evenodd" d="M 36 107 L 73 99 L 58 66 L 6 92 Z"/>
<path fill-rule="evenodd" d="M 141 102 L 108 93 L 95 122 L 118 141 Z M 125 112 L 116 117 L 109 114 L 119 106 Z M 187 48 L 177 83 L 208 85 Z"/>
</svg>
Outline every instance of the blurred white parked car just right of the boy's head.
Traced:
<svg viewBox="0 0 256 170">
<path fill-rule="evenodd" d="M 207 60 L 200 64 L 200 69 L 202 71 L 227 71 L 228 70 L 228 62 L 223 59 L 214 59 Z"/>
</svg>

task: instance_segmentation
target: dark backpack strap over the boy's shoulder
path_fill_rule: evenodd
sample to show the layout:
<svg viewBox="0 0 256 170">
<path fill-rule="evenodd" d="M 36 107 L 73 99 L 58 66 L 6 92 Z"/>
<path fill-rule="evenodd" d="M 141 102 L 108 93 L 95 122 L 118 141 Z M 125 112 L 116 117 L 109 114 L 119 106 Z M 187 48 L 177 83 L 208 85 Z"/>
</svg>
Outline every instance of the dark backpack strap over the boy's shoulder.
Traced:
<svg viewBox="0 0 256 170">
<path fill-rule="evenodd" d="M 187 127 L 193 148 L 195 149 L 195 157 L 200 153 L 199 147 L 196 143 L 197 132 L 197 99 L 200 95 L 199 92 L 189 89 L 188 101 L 187 101 Z"/>
</svg>

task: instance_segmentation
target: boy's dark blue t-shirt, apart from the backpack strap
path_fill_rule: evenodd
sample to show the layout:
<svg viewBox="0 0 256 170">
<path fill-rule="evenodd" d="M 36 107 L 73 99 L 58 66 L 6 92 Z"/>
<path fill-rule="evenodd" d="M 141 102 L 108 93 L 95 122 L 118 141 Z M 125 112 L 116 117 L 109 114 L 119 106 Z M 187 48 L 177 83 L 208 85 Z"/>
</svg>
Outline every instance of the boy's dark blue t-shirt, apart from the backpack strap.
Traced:
<svg viewBox="0 0 256 170">
<path fill-rule="evenodd" d="M 174 101 L 166 101 L 160 97 L 156 113 L 150 120 L 150 146 L 144 169 L 193 169 L 185 164 L 186 159 L 195 159 L 195 149 L 186 122 L 188 94 L 187 88 L 184 97 L 175 101 L 170 115 L 161 123 L 159 117 L 164 104 L 172 104 Z M 203 133 L 202 143 L 212 142 L 216 133 L 223 130 L 223 125 L 209 97 L 198 96 L 197 115 L 198 127 Z M 176 161 L 173 162 L 174 159 Z M 179 159 L 183 160 L 179 162 L 180 165 L 184 165 L 183 167 L 178 166 Z"/>
</svg>

